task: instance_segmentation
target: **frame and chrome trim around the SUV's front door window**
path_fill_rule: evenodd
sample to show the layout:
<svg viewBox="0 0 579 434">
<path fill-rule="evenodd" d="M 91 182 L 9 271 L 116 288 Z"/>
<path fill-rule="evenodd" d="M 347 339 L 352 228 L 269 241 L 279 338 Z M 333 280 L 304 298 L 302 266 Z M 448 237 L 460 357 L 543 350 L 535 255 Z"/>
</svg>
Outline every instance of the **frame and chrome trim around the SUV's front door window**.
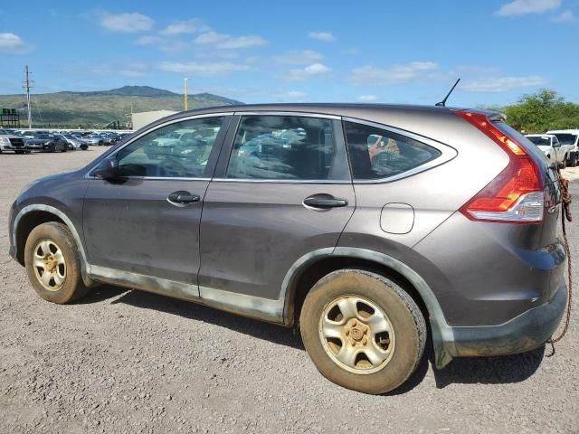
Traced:
<svg viewBox="0 0 579 434">
<path fill-rule="evenodd" d="M 129 146 L 131 143 L 135 142 L 136 140 L 138 140 L 141 137 L 147 136 L 147 134 L 152 133 L 153 131 L 157 131 L 157 129 L 159 129 L 159 128 L 167 127 L 169 125 L 176 124 L 178 122 L 184 122 L 187 120 L 195 120 L 195 119 L 202 119 L 202 118 L 223 118 L 222 130 L 219 131 L 217 137 L 215 138 L 215 142 L 214 142 L 214 146 L 219 146 L 219 152 L 221 152 L 221 148 L 223 147 L 223 143 L 225 142 L 227 131 L 228 131 L 229 127 L 231 126 L 231 119 L 233 118 L 233 111 L 218 112 L 218 113 L 204 113 L 201 115 L 184 116 L 183 118 L 174 118 L 174 119 L 168 120 L 166 122 L 163 122 L 161 124 L 158 124 L 155 127 L 152 127 L 150 129 L 146 129 L 144 131 L 141 131 L 141 133 L 138 134 L 138 136 L 130 137 L 126 143 L 123 143 L 122 146 L 119 146 L 117 149 L 112 150 L 109 155 L 106 155 L 106 156 L 103 156 L 102 158 L 99 158 L 95 162 L 95 164 L 90 167 L 90 169 L 87 171 L 87 173 L 86 173 L 86 175 L 84 175 L 84 177 L 87 179 L 95 179 L 95 180 L 100 181 L 100 179 L 95 178 L 95 176 L 92 175 L 92 172 L 97 169 L 97 167 L 100 165 L 100 162 L 103 159 L 109 158 L 110 156 L 113 156 L 113 155 L 116 156 L 119 153 L 119 151 L 121 149 L 123 149 L 124 147 Z M 220 136 L 221 136 L 221 140 L 218 141 L 217 138 Z M 214 149 L 212 149 L 212 153 L 213 153 L 213 150 Z M 218 156 L 215 157 L 215 160 L 218 159 Z M 217 161 L 214 162 L 214 165 L 216 165 L 216 163 L 217 163 Z M 212 179 L 211 176 L 207 176 L 207 177 L 203 177 L 203 176 L 202 177 L 124 176 L 124 177 L 127 179 L 147 179 L 147 180 L 154 180 L 154 181 L 162 181 L 162 180 L 166 180 L 166 181 L 211 181 L 211 179 Z"/>
</svg>

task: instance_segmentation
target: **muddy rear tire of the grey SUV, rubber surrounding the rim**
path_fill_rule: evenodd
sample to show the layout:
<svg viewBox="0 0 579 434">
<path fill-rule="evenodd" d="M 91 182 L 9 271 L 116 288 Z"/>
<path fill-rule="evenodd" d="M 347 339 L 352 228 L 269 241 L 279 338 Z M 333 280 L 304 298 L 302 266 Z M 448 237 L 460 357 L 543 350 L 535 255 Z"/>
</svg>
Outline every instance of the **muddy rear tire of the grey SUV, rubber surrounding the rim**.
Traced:
<svg viewBox="0 0 579 434">
<path fill-rule="evenodd" d="M 329 315 L 327 309 L 332 306 L 332 303 L 345 297 L 354 300 L 356 297 L 361 297 L 375 304 L 383 311 L 394 330 L 394 334 L 388 334 L 387 340 L 384 341 L 388 342 L 388 345 L 394 342 L 390 358 L 378 365 L 371 373 L 363 373 L 364 370 L 358 370 L 357 365 L 354 370 L 348 371 L 337 360 L 334 360 L 329 353 L 332 350 L 322 340 L 320 332 L 322 317 Z M 356 304 L 356 310 L 357 306 L 359 305 Z M 358 310 L 357 315 L 361 314 L 362 310 Z M 342 317 L 340 321 L 346 321 L 346 319 Z M 392 280 L 363 269 L 340 269 L 318 280 L 304 301 L 299 323 L 304 346 L 322 375 L 346 389 L 371 394 L 393 391 L 412 375 L 422 359 L 427 337 L 424 317 L 413 298 Z M 356 325 L 356 322 L 354 324 Z M 359 330 L 356 331 L 356 335 L 357 332 Z M 372 339 L 362 341 L 362 343 L 356 342 L 354 345 L 367 343 L 372 346 L 375 344 L 373 341 L 377 335 L 374 335 L 372 331 L 369 333 L 368 336 L 373 336 Z M 350 339 L 354 333 L 346 335 L 338 339 L 338 342 L 341 340 L 342 345 L 349 345 L 345 339 Z M 363 350 L 362 353 L 364 353 Z M 356 355 L 356 360 L 357 358 L 358 355 Z M 355 363 L 360 362 L 355 361 Z"/>
</svg>

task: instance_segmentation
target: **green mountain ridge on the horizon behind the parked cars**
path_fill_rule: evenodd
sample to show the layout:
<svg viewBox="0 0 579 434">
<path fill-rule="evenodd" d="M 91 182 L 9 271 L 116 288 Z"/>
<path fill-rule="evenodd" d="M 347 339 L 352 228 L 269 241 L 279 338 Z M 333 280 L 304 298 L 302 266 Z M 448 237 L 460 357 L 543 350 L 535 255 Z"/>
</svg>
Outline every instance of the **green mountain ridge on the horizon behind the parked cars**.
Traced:
<svg viewBox="0 0 579 434">
<path fill-rule="evenodd" d="M 25 101 L 24 95 L 0 95 L 0 109 L 17 109 L 24 127 Z M 189 109 L 238 104 L 243 103 L 207 92 L 188 97 Z M 118 121 L 124 127 L 131 109 L 133 112 L 162 109 L 181 111 L 183 95 L 149 86 L 32 95 L 33 127 L 95 127 L 113 121 Z"/>
</svg>

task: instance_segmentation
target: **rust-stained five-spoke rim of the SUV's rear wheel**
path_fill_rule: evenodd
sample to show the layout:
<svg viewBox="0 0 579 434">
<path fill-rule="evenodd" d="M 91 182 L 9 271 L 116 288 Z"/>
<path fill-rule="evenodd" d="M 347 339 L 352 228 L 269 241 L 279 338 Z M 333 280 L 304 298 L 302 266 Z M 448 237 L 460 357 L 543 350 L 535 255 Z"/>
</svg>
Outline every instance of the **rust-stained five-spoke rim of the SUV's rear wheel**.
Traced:
<svg viewBox="0 0 579 434">
<path fill-rule="evenodd" d="M 394 327 L 365 297 L 342 296 L 324 308 L 319 338 L 327 355 L 350 373 L 376 373 L 394 354 Z"/>
</svg>

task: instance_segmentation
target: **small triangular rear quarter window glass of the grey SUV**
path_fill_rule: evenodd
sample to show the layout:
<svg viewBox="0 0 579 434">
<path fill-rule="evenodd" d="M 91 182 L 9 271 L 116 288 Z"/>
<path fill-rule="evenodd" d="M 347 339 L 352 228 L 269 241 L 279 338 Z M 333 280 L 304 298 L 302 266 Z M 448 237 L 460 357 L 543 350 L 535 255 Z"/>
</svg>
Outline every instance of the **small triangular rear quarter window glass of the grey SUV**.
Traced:
<svg viewBox="0 0 579 434">
<path fill-rule="evenodd" d="M 344 131 L 354 180 L 400 175 L 441 156 L 432 146 L 382 128 L 344 122 Z"/>
</svg>

